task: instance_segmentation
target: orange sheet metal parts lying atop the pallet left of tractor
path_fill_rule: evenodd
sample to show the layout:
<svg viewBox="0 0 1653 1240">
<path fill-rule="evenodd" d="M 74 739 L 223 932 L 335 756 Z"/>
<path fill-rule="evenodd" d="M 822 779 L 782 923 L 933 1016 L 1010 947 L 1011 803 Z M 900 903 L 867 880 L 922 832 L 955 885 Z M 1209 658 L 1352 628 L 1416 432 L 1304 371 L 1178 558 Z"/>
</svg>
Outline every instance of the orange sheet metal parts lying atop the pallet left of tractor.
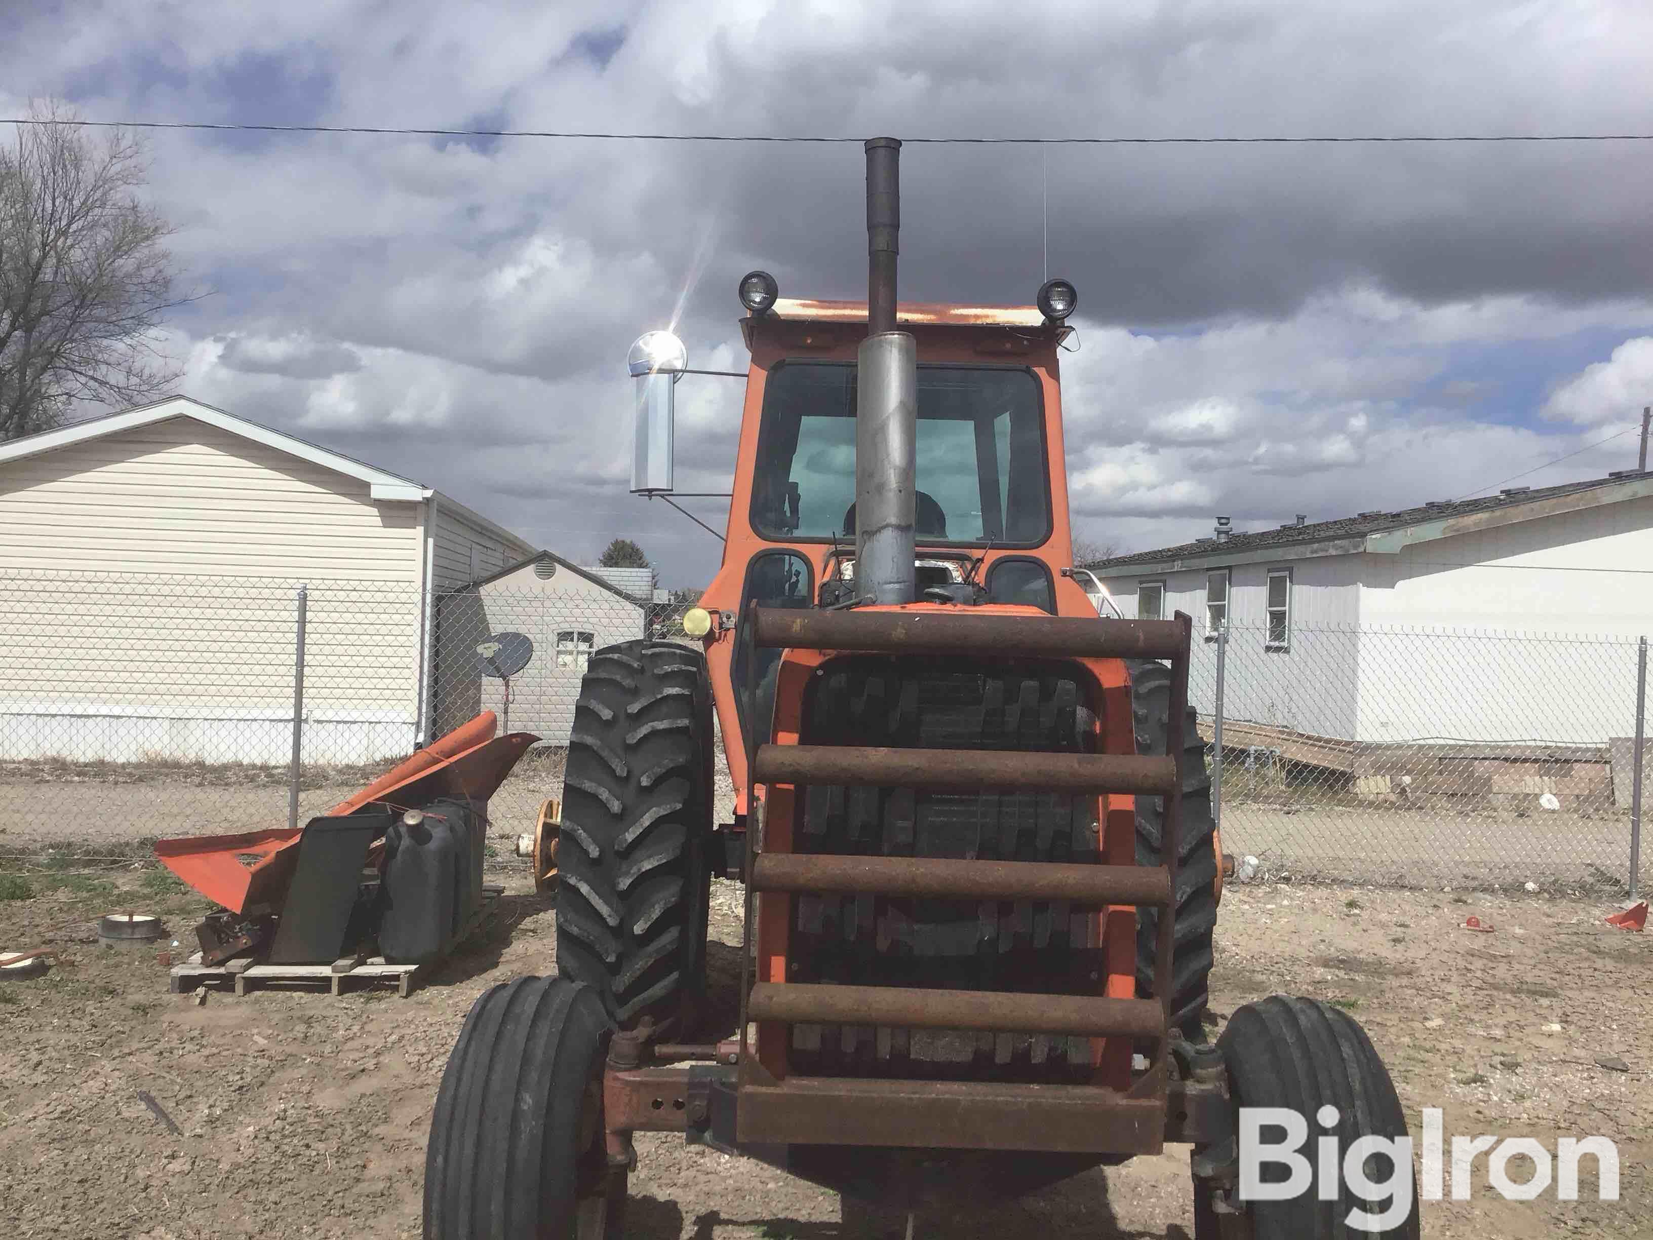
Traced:
<svg viewBox="0 0 1653 1240">
<path fill-rule="evenodd" d="M 483 711 L 336 805 L 329 817 L 370 804 L 420 805 L 443 794 L 486 800 L 529 746 L 539 741 L 531 732 L 496 737 L 494 727 L 494 713 Z M 302 833 L 302 828 L 281 827 L 241 835 L 155 840 L 155 856 L 207 899 L 231 913 L 274 911 L 286 898 L 298 860 L 293 845 Z"/>
</svg>

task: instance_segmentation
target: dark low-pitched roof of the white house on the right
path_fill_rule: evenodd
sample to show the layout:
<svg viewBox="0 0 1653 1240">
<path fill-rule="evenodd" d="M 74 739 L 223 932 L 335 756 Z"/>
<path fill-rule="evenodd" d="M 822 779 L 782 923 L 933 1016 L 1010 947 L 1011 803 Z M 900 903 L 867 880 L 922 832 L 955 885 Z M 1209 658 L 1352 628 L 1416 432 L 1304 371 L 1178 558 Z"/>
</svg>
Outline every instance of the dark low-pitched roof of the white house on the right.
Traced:
<svg viewBox="0 0 1653 1240">
<path fill-rule="evenodd" d="M 1470 534 L 1517 521 L 1575 513 L 1600 504 L 1653 496 L 1653 471 L 1589 478 L 1560 486 L 1514 486 L 1478 499 L 1441 499 L 1393 513 L 1374 511 L 1336 521 L 1235 532 L 1218 542 L 1200 539 L 1175 547 L 1114 556 L 1083 567 L 1098 575 L 1141 575 L 1205 565 L 1255 564 L 1355 552 L 1395 554 L 1413 542 Z"/>
</svg>

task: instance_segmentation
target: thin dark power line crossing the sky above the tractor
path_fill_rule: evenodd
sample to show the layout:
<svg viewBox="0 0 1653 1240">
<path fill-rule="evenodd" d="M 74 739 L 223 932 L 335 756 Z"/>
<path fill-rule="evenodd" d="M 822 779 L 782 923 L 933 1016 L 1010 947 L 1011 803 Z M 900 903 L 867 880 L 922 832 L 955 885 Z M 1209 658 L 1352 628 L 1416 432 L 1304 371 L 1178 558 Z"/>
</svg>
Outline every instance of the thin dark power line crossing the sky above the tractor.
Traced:
<svg viewBox="0 0 1653 1240">
<path fill-rule="evenodd" d="M 412 126 L 278 126 L 217 121 L 53 121 L 7 117 L 8 126 L 79 126 L 83 129 L 207 129 L 256 134 L 390 134 L 407 137 L 552 137 L 598 142 L 863 142 L 831 134 L 648 134 L 579 129 L 425 129 Z M 1417 142 L 1653 142 L 1653 134 L 1261 134 L 1251 137 L 904 137 L 909 145 L 1351 145 Z"/>
</svg>

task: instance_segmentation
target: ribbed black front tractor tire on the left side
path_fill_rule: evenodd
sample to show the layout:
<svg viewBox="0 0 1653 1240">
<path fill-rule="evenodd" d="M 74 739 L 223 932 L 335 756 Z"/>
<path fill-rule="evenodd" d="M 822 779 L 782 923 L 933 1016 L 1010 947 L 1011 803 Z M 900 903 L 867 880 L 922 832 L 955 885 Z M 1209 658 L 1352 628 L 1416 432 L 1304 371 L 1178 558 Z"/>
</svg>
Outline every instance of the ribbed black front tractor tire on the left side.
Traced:
<svg viewBox="0 0 1653 1240">
<path fill-rule="evenodd" d="M 425 1147 L 425 1240 L 618 1240 L 626 1174 L 608 1167 L 590 987 L 519 977 L 486 990 L 448 1056 Z"/>
</svg>

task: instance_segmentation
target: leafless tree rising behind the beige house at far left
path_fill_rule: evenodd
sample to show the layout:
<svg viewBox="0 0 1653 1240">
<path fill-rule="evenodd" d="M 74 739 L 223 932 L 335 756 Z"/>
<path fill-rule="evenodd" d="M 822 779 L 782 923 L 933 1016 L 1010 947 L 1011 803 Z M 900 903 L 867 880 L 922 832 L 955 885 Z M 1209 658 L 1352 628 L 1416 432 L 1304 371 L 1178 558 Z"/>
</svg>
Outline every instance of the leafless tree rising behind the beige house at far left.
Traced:
<svg viewBox="0 0 1653 1240">
<path fill-rule="evenodd" d="M 55 106 L 0 147 L 0 441 L 81 402 L 136 405 L 180 370 L 160 351 L 172 228 L 139 198 L 149 164 L 121 129 L 94 137 Z"/>
</svg>

